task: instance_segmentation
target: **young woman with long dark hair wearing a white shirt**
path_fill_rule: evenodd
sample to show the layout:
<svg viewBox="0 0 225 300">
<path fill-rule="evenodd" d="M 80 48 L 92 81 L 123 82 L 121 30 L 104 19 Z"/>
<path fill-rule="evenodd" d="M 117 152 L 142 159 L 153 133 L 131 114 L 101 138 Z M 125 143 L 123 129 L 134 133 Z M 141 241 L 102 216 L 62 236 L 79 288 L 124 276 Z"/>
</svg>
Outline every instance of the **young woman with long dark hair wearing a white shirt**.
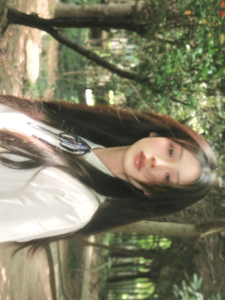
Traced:
<svg viewBox="0 0 225 300">
<path fill-rule="evenodd" d="M 33 249 L 176 212 L 203 198 L 216 159 L 168 116 L 0 96 L 0 242 Z"/>
</svg>

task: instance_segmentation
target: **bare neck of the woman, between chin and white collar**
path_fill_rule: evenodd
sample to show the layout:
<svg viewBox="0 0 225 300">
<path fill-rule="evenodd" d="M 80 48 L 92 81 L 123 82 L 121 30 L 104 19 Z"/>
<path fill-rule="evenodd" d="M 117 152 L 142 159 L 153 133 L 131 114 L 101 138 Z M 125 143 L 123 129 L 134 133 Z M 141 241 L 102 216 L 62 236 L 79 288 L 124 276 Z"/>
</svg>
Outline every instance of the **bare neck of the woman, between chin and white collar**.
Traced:
<svg viewBox="0 0 225 300">
<path fill-rule="evenodd" d="M 124 154 L 129 146 L 111 147 L 111 148 L 95 148 L 92 152 L 100 159 L 100 161 L 109 169 L 112 174 L 120 179 L 126 180 L 124 175 Z"/>
</svg>

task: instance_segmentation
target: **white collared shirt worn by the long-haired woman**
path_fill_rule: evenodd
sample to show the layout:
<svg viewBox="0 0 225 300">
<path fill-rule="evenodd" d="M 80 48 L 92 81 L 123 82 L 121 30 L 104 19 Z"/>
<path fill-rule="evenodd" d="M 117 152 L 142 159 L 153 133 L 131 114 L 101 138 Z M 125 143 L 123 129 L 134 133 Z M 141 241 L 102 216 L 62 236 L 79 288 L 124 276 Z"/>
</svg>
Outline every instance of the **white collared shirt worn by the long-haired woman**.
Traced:
<svg viewBox="0 0 225 300">
<path fill-rule="evenodd" d="M 59 145 L 52 134 L 35 129 L 27 122 L 55 133 L 61 132 L 0 103 L 0 128 L 35 135 Z M 86 142 L 92 149 L 103 148 Z M 113 176 L 93 152 L 84 157 L 101 171 Z M 41 170 L 26 184 L 39 169 L 17 170 L 0 163 L 0 243 L 25 242 L 76 231 L 85 226 L 98 209 L 96 193 L 57 168 Z M 97 196 L 101 202 L 104 201 L 102 195 Z"/>
</svg>

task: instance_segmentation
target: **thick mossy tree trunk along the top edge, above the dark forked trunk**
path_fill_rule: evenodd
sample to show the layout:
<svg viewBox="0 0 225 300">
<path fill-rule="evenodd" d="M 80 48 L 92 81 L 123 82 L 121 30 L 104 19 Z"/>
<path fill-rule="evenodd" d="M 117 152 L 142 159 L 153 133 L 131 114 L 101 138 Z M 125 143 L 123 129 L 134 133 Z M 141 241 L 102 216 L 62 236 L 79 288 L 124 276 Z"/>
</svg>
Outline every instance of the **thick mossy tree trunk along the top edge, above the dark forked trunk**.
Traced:
<svg viewBox="0 0 225 300">
<path fill-rule="evenodd" d="M 120 28 L 143 35 L 151 18 L 149 12 L 149 5 L 141 1 L 92 5 L 58 2 L 54 18 L 66 21 L 70 27 Z"/>
</svg>

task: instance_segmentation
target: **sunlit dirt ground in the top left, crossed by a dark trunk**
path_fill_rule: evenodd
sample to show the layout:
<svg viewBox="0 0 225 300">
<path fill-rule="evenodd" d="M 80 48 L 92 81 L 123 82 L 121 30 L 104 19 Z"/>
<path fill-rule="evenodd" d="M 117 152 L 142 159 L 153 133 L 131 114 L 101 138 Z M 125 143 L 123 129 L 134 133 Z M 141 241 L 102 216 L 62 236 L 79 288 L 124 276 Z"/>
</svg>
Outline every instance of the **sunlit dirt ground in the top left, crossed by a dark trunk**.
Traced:
<svg viewBox="0 0 225 300">
<path fill-rule="evenodd" d="M 58 0 L 7 0 L 12 8 L 24 13 L 37 13 L 44 18 L 53 16 L 57 2 Z M 38 76 L 43 35 L 45 32 L 36 28 L 14 24 L 7 28 L 0 39 L 0 94 L 27 98 L 31 96 L 29 85 L 32 86 L 32 78 Z M 51 40 L 44 49 L 48 64 L 46 99 L 52 97 L 52 85 L 56 80 L 57 46 L 57 41 Z"/>
</svg>

